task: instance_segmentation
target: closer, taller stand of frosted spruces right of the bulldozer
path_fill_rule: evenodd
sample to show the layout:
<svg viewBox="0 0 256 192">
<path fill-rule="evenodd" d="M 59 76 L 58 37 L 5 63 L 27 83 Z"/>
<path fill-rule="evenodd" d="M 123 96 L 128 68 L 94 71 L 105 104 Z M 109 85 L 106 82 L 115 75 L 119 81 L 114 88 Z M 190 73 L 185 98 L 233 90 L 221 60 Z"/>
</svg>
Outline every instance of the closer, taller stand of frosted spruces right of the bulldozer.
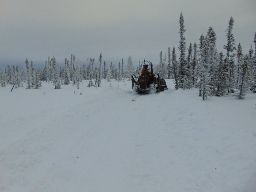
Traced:
<svg viewBox="0 0 256 192">
<path fill-rule="evenodd" d="M 222 51 L 217 51 L 216 34 L 212 27 L 209 27 L 206 35 L 200 36 L 199 44 L 190 43 L 187 49 L 184 18 L 180 13 L 180 56 L 177 60 L 175 47 L 172 53 L 169 47 L 168 55 L 166 52 L 164 57 L 161 51 L 156 70 L 162 77 L 173 78 L 175 89 L 198 87 L 199 96 L 203 100 L 209 96 L 223 96 L 229 92 L 236 93 L 235 96 L 243 99 L 249 88 L 255 93 L 256 52 L 253 51 L 252 45 L 247 54 L 243 53 L 240 43 L 235 46 L 233 25 L 234 19 L 231 17 L 226 30 L 227 45 L 223 46 L 226 55 Z M 253 42 L 256 49 L 256 32 Z"/>
</svg>

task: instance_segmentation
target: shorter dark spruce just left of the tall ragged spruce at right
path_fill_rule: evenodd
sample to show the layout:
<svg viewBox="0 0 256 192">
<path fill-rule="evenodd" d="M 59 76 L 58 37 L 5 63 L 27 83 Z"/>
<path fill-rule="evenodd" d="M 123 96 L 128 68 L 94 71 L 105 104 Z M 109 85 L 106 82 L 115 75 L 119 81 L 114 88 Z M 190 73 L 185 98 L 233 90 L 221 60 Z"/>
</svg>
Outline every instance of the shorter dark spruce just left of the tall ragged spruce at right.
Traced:
<svg viewBox="0 0 256 192">
<path fill-rule="evenodd" d="M 217 91 L 216 96 L 223 96 L 226 94 L 226 87 L 228 84 L 228 71 L 224 68 L 224 55 L 222 51 L 219 54 L 218 65 L 217 65 Z"/>
</svg>

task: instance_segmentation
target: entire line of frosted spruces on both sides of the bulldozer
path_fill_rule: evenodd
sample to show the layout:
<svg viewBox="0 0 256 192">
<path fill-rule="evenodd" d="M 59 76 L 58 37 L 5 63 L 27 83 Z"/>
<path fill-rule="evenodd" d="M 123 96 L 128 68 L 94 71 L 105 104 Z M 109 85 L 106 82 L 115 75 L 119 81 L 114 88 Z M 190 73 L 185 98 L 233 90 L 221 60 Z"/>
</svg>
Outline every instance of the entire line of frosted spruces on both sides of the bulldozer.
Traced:
<svg viewBox="0 0 256 192">
<path fill-rule="evenodd" d="M 161 51 L 159 64 L 155 65 L 154 72 L 158 72 L 163 78 L 174 79 L 175 89 L 199 88 L 199 96 L 203 100 L 209 96 L 223 96 L 229 92 L 236 93 L 235 96 L 243 99 L 249 88 L 255 93 L 256 52 L 253 51 L 252 45 L 247 54 L 243 53 L 240 43 L 235 46 L 233 25 L 234 19 L 231 17 L 226 30 L 227 44 L 223 45 L 226 55 L 222 51 L 217 51 L 216 34 L 212 27 L 209 27 L 206 35 L 200 36 L 198 44 L 190 42 L 189 47 L 186 48 L 186 29 L 183 15 L 180 13 L 178 46 L 180 56 L 177 59 L 174 46 L 172 51 L 168 47 L 168 54 L 166 52 L 164 56 Z M 253 42 L 256 48 L 256 33 Z M 13 69 L 10 65 L 7 65 L 7 70 L 0 69 L 0 83 L 2 87 L 7 83 L 19 87 L 26 82 L 28 89 L 41 87 L 41 81 L 53 83 L 55 89 L 60 89 L 61 84 L 72 83 L 79 89 L 82 80 L 89 80 L 88 87 L 100 87 L 102 79 L 131 80 L 131 75 L 139 74 L 141 70 L 134 69 L 131 56 L 127 58 L 126 64 L 123 59 L 118 65 L 102 62 L 101 53 L 98 67 L 94 67 L 94 61 L 94 58 L 88 58 L 87 64 L 82 64 L 75 55 L 71 54 L 70 59 L 65 58 L 64 67 L 59 68 L 55 58 L 48 57 L 44 68 L 36 71 L 33 62 L 29 64 L 26 59 L 24 70 L 20 70 L 17 65 L 13 66 Z M 108 69 L 106 65 L 109 65 Z"/>
</svg>

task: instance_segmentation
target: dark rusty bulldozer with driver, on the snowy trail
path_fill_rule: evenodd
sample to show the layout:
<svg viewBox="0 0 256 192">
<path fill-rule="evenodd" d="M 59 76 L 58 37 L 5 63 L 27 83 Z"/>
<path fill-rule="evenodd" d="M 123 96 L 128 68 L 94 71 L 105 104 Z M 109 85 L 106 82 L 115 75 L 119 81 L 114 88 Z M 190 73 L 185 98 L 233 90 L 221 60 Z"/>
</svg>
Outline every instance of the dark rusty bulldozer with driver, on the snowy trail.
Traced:
<svg viewBox="0 0 256 192">
<path fill-rule="evenodd" d="M 165 80 L 160 78 L 159 73 L 153 73 L 152 62 L 144 59 L 139 69 L 137 76 L 132 74 L 132 89 L 134 88 L 136 93 L 157 93 L 168 89 Z"/>
</svg>

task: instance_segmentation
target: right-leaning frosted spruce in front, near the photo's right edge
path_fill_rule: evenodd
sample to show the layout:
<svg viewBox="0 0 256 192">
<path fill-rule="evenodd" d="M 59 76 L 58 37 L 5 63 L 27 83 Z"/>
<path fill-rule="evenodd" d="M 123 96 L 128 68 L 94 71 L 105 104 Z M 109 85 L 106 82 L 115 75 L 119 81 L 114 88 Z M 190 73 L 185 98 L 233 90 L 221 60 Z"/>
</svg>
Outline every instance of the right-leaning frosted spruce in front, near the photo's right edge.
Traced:
<svg viewBox="0 0 256 192">
<path fill-rule="evenodd" d="M 248 54 L 244 56 L 243 62 L 241 63 L 239 70 L 241 74 L 241 81 L 239 85 L 240 91 L 236 96 L 239 99 L 243 99 L 248 90 L 248 81 L 249 81 L 250 70 L 251 70 L 250 57 Z"/>
</svg>

